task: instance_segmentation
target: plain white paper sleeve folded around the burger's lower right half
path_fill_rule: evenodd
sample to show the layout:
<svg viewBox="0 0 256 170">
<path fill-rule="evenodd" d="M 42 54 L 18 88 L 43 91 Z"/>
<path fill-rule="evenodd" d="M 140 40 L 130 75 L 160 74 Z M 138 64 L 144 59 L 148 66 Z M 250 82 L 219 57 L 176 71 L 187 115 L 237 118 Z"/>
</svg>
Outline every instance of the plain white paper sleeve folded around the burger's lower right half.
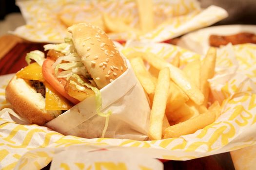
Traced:
<svg viewBox="0 0 256 170">
<path fill-rule="evenodd" d="M 102 112 L 112 111 L 105 137 L 147 139 L 150 107 L 129 61 L 128 69 L 111 84 L 100 89 Z M 97 115 L 95 97 L 86 98 L 65 113 L 46 123 L 64 135 L 101 137 L 106 117 Z"/>
</svg>

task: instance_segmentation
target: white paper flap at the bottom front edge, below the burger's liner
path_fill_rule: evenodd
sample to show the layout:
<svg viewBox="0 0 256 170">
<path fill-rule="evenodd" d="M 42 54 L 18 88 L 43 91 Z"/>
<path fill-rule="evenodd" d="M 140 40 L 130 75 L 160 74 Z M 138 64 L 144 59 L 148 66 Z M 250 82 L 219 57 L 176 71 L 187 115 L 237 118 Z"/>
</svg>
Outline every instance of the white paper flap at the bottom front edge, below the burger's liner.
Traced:
<svg viewBox="0 0 256 170">
<path fill-rule="evenodd" d="M 28 151 L 21 159 L 26 161 L 20 161 L 15 170 L 39 170 L 50 160 L 50 170 L 163 170 L 163 164 L 150 156 L 134 155 L 129 151 L 99 150 L 91 146 L 39 148 Z"/>
</svg>

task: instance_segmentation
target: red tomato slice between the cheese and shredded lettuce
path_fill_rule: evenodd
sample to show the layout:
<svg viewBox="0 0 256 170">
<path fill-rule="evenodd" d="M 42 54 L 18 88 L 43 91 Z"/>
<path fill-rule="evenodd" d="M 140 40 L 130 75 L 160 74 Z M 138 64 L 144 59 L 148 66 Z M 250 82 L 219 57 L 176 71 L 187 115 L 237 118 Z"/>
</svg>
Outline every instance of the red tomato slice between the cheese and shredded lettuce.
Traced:
<svg viewBox="0 0 256 170">
<path fill-rule="evenodd" d="M 42 65 L 42 74 L 44 79 L 56 90 L 61 94 L 63 97 L 68 99 L 70 102 L 77 104 L 79 101 L 71 96 L 69 96 L 64 86 L 66 85 L 67 81 L 64 78 L 57 78 L 54 75 L 54 68 L 52 68 L 52 65 L 54 64 L 54 61 L 50 58 L 47 58 L 44 60 Z"/>
</svg>

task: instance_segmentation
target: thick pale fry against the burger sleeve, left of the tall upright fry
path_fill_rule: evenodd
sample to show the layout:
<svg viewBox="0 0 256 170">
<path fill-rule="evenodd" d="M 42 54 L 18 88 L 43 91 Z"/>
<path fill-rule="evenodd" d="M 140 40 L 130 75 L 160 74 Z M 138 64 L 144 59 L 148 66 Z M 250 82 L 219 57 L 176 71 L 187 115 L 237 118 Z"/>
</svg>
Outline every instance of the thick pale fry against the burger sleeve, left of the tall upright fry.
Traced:
<svg viewBox="0 0 256 170">
<path fill-rule="evenodd" d="M 138 78 L 138 81 L 145 89 L 146 93 L 148 95 L 154 94 L 156 88 L 156 79 L 154 79 L 152 75 L 147 71 L 143 63 L 143 60 L 141 58 L 136 57 L 132 58 L 130 62 L 135 72 L 135 75 Z"/>
</svg>

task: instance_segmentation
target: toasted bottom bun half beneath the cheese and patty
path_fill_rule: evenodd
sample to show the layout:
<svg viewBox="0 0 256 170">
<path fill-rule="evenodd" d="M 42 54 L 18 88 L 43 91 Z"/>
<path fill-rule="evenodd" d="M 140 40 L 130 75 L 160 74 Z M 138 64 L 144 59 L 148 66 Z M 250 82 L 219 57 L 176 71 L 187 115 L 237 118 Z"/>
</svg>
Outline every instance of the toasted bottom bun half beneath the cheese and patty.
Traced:
<svg viewBox="0 0 256 170">
<path fill-rule="evenodd" d="M 60 110 L 45 110 L 45 99 L 24 79 L 14 76 L 5 89 L 5 97 L 15 112 L 30 123 L 43 125 L 61 114 Z"/>
</svg>

